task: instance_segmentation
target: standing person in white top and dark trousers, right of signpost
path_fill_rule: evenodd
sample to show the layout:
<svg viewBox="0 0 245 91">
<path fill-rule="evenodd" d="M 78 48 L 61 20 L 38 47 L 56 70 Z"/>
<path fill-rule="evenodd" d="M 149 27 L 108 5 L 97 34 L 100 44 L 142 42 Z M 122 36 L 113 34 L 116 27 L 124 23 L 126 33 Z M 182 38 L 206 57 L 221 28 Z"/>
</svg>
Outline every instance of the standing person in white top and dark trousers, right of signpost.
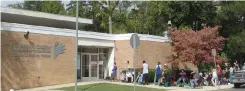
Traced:
<svg viewBox="0 0 245 91">
<path fill-rule="evenodd" d="M 143 60 L 143 85 L 148 85 L 148 64 Z"/>
</svg>

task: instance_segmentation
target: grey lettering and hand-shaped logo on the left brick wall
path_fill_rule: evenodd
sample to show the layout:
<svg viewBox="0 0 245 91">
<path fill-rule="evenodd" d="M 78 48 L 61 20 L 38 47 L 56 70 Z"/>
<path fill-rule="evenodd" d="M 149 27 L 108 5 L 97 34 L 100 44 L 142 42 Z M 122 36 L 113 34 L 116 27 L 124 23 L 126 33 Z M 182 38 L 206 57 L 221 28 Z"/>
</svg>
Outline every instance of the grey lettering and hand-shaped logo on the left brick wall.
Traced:
<svg viewBox="0 0 245 91">
<path fill-rule="evenodd" d="M 11 45 L 11 56 L 13 57 L 41 57 L 56 58 L 59 54 L 64 53 L 64 45 L 57 43 L 50 45 Z"/>
</svg>

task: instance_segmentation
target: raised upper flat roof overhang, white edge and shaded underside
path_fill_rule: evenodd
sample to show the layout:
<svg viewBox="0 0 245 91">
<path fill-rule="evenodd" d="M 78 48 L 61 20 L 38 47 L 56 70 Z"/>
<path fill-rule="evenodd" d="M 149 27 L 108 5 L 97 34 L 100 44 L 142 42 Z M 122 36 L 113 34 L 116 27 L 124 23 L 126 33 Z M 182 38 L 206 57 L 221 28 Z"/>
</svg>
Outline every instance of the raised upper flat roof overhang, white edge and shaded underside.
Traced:
<svg viewBox="0 0 245 91">
<path fill-rule="evenodd" d="M 76 29 L 76 17 L 13 8 L 1 7 L 1 22 Z M 93 20 L 78 18 L 78 24 L 82 28 Z"/>
</svg>

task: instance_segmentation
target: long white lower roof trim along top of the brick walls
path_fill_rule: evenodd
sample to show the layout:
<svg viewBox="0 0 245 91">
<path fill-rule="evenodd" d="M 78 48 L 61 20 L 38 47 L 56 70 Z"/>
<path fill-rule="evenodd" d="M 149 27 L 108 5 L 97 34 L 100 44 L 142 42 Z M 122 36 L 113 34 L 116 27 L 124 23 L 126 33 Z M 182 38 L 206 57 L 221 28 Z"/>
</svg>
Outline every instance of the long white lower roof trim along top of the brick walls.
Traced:
<svg viewBox="0 0 245 91">
<path fill-rule="evenodd" d="M 1 30 L 6 31 L 16 31 L 16 32 L 27 32 L 39 33 L 39 34 L 52 34 L 60 36 L 76 36 L 76 30 L 73 29 L 62 29 L 62 28 L 53 28 L 46 26 L 35 26 L 35 25 L 26 25 L 18 23 L 8 23 L 1 22 Z M 78 37 L 80 38 L 91 38 L 91 39 L 101 39 L 101 40 L 129 40 L 131 35 L 129 34 L 107 34 L 107 33 L 98 33 L 90 31 L 78 31 Z M 154 36 L 154 35 L 145 35 L 138 34 L 141 40 L 155 41 L 155 42 L 169 42 L 168 37 Z"/>
</svg>

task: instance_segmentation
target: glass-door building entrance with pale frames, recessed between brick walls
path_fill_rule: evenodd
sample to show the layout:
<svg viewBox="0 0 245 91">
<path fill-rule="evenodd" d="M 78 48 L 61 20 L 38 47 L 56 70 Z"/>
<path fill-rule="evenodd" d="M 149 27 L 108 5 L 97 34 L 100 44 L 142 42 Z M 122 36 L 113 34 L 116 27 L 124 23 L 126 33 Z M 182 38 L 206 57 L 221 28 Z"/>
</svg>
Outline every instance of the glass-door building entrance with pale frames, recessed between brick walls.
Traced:
<svg viewBox="0 0 245 91">
<path fill-rule="evenodd" d="M 96 49 L 98 50 L 97 53 Z M 77 71 L 80 81 L 95 81 L 104 78 L 104 63 L 107 57 L 106 53 L 100 53 L 99 51 L 100 48 L 86 48 L 78 54 L 78 59 L 80 59 L 78 64 L 80 65 Z"/>
</svg>

